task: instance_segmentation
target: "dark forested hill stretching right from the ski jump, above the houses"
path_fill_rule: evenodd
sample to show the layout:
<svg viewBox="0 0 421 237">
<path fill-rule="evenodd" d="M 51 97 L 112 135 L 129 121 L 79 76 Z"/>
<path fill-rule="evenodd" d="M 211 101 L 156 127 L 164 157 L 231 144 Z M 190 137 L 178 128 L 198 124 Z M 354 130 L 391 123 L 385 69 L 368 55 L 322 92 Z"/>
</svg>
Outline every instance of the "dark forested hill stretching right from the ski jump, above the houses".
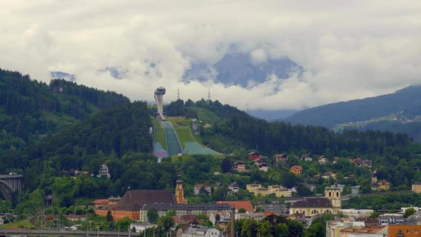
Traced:
<svg viewBox="0 0 421 237">
<path fill-rule="evenodd" d="M 202 139 L 215 150 L 256 149 L 265 154 L 308 152 L 332 156 L 371 154 L 409 157 L 411 141 L 406 134 L 357 130 L 339 134 L 320 126 L 269 123 L 218 101 L 199 100 L 194 103 L 188 100 L 183 103 L 177 100 L 165 109 L 171 115 L 197 117 L 199 121 L 208 123 L 201 126 Z"/>
</svg>

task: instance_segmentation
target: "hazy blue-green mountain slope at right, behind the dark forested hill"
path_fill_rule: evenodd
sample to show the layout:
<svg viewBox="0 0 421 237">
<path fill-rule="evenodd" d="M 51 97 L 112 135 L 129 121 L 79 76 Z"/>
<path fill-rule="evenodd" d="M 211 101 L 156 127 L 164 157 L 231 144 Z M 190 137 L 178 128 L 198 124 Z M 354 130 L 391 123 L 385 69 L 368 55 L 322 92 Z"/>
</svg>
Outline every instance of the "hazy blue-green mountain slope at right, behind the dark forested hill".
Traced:
<svg viewBox="0 0 421 237">
<path fill-rule="evenodd" d="M 357 128 L 405 132 L 420 142 L 421 86 L 405 87 L 393 94 L 305 109 L 285 121 L 322 125 L 337 131 Z"/>
</svg>

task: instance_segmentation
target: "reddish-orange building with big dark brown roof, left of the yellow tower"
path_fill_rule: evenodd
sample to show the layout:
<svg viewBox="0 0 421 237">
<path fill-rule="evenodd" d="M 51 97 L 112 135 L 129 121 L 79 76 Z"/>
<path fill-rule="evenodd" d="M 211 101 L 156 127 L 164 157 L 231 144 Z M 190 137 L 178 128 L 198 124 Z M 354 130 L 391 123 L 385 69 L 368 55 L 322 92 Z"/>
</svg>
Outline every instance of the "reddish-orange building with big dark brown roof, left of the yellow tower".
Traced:
<svg viewBox="0 0 421 237">
<path fill-rule="evenodd" d="M 166 190 L 130 190 L 115 205 L 107 205 L 95 209 L 100 216 L 107 216 L 111 211 L 114 221 L 121 220 L 126 216 L 131 220 L 139 220 L 141 207 L 145 204 L 163 203 L 174 206 L 174 195 Z"/>
</svg>

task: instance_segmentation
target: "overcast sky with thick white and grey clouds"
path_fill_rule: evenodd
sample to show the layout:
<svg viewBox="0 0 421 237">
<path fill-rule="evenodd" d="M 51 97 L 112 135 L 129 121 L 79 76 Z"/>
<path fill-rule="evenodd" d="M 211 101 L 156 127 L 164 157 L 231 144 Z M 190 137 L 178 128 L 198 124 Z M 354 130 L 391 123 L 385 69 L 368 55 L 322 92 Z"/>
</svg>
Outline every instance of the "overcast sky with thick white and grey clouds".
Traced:
<svg viewBox="0 0 421 237">
<path fill-rule="evenodd" d="M 1 1 L 0 68 L 45 82 L 65 71 L 131 100 L 163 86 L 167 102 L 177 89 L 184 100 L 210 90 L 240 109 L 303 109 L 421 84 L 420 12 L 406 0 Z M 183 80 L 232 45 L 251 62 L 287 56 L 306 71 L 247 88 Z"/>
</svg>

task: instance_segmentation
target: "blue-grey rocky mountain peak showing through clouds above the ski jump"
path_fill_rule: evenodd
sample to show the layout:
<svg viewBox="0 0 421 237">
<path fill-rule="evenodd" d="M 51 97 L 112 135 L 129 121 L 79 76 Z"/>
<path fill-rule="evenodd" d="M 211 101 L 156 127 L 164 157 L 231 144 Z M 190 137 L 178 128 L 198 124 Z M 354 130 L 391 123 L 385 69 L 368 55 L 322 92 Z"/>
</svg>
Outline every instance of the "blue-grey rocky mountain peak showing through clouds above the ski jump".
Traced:
<svg viewBox="0 0 421 237">
<path fill-rule="evenodd" d="M 287 57 L 267 59 L 253 62 L 251 55 L 246 53 L 227 53 L 215 64 L 198 63 L 188 69 L 184 80 L 214 80 L 224 85 L 240 85 L 247 87 L 254 83 L 262 83 L 274 74 L 280 79 L 301 75 L 305 70 Z"/>
</svg>

